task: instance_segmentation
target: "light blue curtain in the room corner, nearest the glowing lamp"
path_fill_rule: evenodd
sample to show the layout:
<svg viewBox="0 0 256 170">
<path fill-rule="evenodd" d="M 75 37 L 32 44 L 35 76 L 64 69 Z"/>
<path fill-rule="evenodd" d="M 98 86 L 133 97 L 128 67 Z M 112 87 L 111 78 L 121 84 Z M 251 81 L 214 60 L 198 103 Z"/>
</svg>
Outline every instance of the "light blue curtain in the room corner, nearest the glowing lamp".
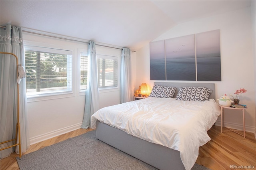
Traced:
<svg viewBox="0 0 256 170">
<path fill-rule="evenodd" d="M 121 80 L 120 103 L 131 101 L 131 51 L 122 48 L 121 53 Z"/>
</svg>

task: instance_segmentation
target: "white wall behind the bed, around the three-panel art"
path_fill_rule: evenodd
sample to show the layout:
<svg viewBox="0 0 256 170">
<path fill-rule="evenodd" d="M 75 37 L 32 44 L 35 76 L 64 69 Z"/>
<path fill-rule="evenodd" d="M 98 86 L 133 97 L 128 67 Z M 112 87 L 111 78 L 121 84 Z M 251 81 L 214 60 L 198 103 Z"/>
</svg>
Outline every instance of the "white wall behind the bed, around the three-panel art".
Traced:
<svg viewBox="0 0 256 170">
<path fill-rule="evenodd" d="M 220 30 L 222 81 L 210 81 L 209 83 L 215 83 L 217 98 L 224 94 L 234 93 L 240 88 L 247 89 L 247 92 L 241 95 L 240 102 L 248 105 L 245 113 L 246 131 L 254 132 L 256 118 L 253 48 L 255 46 L 252 46 L 251 7 L 178 24 L 154 41 L 218 29 Z M 146 82 L 150 83 L 152 87 L 154 81 L 150 81 L 149 44 L 137 50 L 136 57 L 136 72 L 138 74 L 135 86 Z M 216 124 L 220 125 L 220 120 Z M 236 111 L 233 113 L 226 111 L 225 126 L 242 129 L 242 114 Z"/>
</svg>

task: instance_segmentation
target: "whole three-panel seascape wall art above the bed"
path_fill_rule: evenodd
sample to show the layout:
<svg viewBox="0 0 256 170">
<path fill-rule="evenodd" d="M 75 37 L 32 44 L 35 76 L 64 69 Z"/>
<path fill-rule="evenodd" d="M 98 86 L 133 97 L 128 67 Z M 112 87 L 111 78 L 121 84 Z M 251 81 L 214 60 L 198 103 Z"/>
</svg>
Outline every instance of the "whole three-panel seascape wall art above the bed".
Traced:
<svg viewBox="0 0 256 170">
<path fill-rule="evenodd" d="M 220 30 L 150 42 L 150 79 L 221 81 Z"/>
</svg>

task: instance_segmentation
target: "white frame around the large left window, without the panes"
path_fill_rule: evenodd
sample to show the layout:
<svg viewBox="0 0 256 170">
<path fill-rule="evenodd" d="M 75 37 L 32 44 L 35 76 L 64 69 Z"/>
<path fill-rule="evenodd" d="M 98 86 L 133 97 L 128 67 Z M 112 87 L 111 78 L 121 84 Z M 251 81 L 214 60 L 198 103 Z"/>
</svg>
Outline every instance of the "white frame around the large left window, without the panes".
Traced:
<svg viewBox="0 0 256 170">
<path fill-rule="evenodd" d="M 32 51 L 42 51 L 42 52 L 48 52 L 48 53 L 63 53 L 63 50 L 65 51 L 65 54 L 72 55 L 72 57 L 69 57 L 68 61 L 68 67 L 71 71 L 71 78 L 70 78 L 70 88 L 64 91 L 52 91 L 48 93 L 35 93 L 34 95 L 27 95 L 27 102 L 33 102 L 33 101 L 43 101 L 43 100 L 49 100 L 49 99 L 60 99 L 60 98 L 66 98 L 66 97 L 73 97 L 73 91 L 74 91 L 74 50 L 73 49 L 67 49 L 66 47 L 62 47 L 59 45 L 53 45 L 53 44 L 46 44 L 46 43 L 40 43 L 40 42 L 31 42 L 31 41 L 24 41 L 24 48 L 26 50 L 32 50 Z"/>
</svg>

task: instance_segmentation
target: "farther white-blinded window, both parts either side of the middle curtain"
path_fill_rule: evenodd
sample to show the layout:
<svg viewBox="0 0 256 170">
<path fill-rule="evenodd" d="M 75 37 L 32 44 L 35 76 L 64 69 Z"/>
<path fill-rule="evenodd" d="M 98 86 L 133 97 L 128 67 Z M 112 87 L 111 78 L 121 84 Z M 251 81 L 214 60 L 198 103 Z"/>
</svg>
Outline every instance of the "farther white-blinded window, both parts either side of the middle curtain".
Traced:
<svg viewBox="0 0 256 170">
<path fill-rule="evenodd" d="M 99 89 L 104 89 L 104 91 L 118 90 L 120 50 L 100 46 L 97 49 Z M 84 91 L 87 89 L 88 62 L 87 49 L 78 49 L 78 95 L 84 95 Z"/>
</svg>

